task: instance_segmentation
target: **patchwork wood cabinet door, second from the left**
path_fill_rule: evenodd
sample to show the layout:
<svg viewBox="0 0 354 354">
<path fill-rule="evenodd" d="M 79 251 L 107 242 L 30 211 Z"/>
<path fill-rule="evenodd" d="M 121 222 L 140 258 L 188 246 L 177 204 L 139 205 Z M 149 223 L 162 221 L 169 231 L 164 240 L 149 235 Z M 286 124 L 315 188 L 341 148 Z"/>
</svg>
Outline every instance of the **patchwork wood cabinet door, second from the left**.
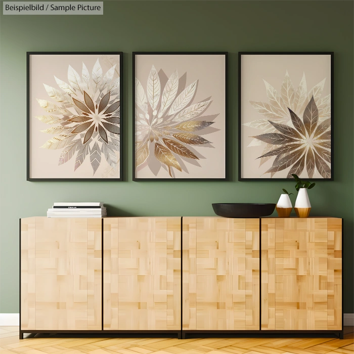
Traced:
<svg viewBox="0 0 354 354">
<path fill-rule="evenodd" d="M 104 329 L 181 329 L 181 218 L 104 219 Z"/>
</svg>

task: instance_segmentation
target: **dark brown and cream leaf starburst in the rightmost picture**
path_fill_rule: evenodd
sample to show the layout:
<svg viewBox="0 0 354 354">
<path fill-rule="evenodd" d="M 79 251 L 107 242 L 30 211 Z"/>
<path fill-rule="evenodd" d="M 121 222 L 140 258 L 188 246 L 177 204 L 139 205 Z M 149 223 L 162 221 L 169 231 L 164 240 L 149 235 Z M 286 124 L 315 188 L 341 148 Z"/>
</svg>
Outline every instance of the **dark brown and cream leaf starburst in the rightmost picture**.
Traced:
<svg viewBox="0 0 354 354">
<path fill-rule="evenodd" d="M 264 80 L 270 103 L 250 101 L 259 114 L 269 118 L 244 124 L 262 131 L 250 137 L 253 140 L 248 145 L 264 146 L 257 157 L 260 166 L 275 156 L 264 173 L 273 177 L 287 169 L 287 178 L 303 173 L 310 179 L 331 177 L 331 95 L 321 98 L 325 80 L 307 92 L 305 74 L 295 89 L 286 71 L 280 94 Z"/>
</svg>

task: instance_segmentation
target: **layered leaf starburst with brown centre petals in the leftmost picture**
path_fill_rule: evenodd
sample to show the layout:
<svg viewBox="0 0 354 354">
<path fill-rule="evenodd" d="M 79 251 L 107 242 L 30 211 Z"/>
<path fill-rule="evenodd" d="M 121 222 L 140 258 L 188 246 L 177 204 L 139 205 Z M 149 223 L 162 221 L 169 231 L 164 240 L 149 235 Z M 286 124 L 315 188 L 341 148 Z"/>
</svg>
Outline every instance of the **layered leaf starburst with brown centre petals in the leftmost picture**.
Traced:
<svg viewBox="0 0 354 354">
<path fill-rule="evenodd" d="M 112 64 L 109 64 L 110 61 Z M 120 78 L 116 65 L 119 59 L 111 58 L 110 61 L 104 61 L 109 65 L 105 75 L 97 59 L 91 75 L 84 63 L 81 76 L 69 65 L 69 83 L 56 76 L 58 88 L 43 83 L 48 96 L 54 102 L 37 99 L 40 107 L 50 115 L 36 118 L 45 124 L 59 125 L 41 130 L 55 135 L 41 147 L 62 149 L 58 165 L 73 159 L 76 171 L 89 156 L 93 174 L 102 163 L 111 169 L 117 169 L 119 155 L 116 152 L 119 153 L 120 150 Z"/>
</svg>

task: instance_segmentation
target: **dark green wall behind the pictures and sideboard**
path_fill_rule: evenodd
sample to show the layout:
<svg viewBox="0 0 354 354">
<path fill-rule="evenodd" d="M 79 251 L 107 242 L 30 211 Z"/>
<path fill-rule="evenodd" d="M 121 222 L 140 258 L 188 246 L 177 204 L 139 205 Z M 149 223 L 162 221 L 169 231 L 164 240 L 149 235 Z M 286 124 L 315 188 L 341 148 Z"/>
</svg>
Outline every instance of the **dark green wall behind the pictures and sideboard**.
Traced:
<svg viewBox="0 0 354 354">
<path fill-rule="evenodd" d="M 213 215 L 212 202 L 276 202 L 291 182 L 237 182 L 239 51 L 333 51 L 334 182 L 309 191 L 313 215 L 343 217 L 344 312 L 354 313 L 352 0 L 105 0 L 103 16 L 0 15 L 0 313 L 18 312 L 18 219 L 54 201 L 102 200 L 114 215 Z M 26 182 L 26 52 L 124 52 L 127 182 Z M 228 51 L 230 182 L 131 182 L 131 52 Z"/>
</svg>

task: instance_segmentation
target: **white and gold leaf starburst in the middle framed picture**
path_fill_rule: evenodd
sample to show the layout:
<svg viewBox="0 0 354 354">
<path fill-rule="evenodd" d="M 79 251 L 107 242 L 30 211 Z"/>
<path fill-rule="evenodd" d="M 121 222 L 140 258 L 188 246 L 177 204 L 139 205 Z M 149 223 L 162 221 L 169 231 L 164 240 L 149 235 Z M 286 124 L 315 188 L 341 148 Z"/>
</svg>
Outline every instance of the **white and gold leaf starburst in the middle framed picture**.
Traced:
<svg viewBox="0 0 354 354">
<path fill-rule="evenodd" d="M 165 77 L 168 77 L 167 82 Z M 163 90 L 161 82 L 166 82 Z M 200 166 L 196 164 L 196 160 L 202 161 L 202 155 L 197 152 L 198 146 L 212 142 L 201 137 L 199 131 L 214 122 L 204 116 L 212 105 L 211 97 L 193 102 L 197 85 L 198 80 L 181 84 L 178 69 L 167 76 L 154 65 L 146 78 L 135 78 L 136 170 L 150 168 L 156 175 L 162 165 L 161 170 L 167 170 L 170 178 L 176 178 L 180 172 L 189 173 L 184 162 Z M 204 134 L 212 134 L 217 130 L 205 131 Z M 153 153 L 150 149 L 153 149 Z"/>
</svg>

